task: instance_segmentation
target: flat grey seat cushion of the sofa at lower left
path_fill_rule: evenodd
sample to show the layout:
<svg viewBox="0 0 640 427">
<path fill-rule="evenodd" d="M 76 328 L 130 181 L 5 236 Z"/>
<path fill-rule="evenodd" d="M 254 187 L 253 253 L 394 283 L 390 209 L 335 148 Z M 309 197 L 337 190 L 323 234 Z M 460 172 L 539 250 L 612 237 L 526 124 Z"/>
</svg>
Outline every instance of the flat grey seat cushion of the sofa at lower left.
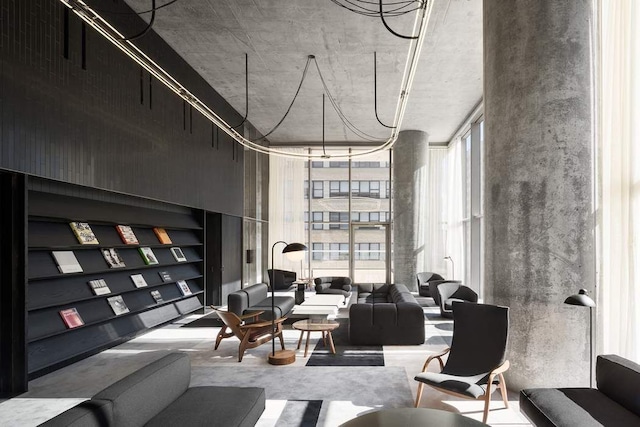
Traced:
<svg viewBox="0 0 640 427">
<path fill-rule="evenodd" d="M 256 424 L 264 408 L 263 388 L 191 387 L 146 425 L 248 427 Z"/>
</svg>

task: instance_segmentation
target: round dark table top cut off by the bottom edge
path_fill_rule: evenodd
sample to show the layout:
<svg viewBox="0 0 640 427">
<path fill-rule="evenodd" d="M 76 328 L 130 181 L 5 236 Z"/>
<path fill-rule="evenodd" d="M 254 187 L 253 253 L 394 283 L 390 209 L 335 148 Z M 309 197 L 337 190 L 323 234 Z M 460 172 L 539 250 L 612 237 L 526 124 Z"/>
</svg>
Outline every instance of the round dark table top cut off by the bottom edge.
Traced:
<svg viewBox="0 0 640 427">
<path fill-rule="evenodd" d="M 340 427 L 479 427 L 486 426 L 454 412 L 428 408 L 394 408 L 369 412 L 347 421 Z"/>
</svg>

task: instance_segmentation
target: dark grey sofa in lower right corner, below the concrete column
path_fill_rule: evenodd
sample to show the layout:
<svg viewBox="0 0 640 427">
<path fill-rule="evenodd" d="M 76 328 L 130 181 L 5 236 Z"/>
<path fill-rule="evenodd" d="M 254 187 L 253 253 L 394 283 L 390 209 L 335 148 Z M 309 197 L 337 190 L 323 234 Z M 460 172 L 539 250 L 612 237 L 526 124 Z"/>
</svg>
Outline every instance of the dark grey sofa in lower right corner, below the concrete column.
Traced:
<svg viewBox="0 0 640 427">
<path fill-rule="evenodd" d="M 520 392 L 520 411 L 535 426 L 640 426 L 640 365 L 598 356 L 597 388 L 533 388 Z"/>
</svg>

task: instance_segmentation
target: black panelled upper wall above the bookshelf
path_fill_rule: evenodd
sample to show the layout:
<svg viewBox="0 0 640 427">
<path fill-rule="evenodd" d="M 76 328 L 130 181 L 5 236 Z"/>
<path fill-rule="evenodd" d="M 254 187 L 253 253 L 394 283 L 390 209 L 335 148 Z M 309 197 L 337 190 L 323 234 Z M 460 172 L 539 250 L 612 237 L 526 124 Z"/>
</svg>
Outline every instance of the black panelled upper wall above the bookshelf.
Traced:
<svg viewBox="0 0 640 427">
<path fill-rule="evenodd" d="M 130 11 L 122 0 L 94 3 Z M 243 215 L 237 143 L 59 1 L 0 4 L 0 169 Z M 124 34 L 145 27 L 136 15 L 104 16 Z M 240 122 L 153 31 L 136 43 L 229 123 Z"/>
</svg>

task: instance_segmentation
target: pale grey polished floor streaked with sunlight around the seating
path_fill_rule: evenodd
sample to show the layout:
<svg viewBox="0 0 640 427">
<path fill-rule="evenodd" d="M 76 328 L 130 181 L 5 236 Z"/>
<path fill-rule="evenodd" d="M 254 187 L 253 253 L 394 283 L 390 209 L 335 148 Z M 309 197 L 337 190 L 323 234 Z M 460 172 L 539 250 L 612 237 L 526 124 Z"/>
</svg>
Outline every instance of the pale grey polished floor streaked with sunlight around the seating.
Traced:
<svg viewBox="0 0 640 427">
<path fill-rule="evenodd" d="M 267 363 L 269 344 L 248 350 L 243 361 L 238 363 L 238 341 L 235 338 L 223 340 L 220 348 L 214 351 L 218 328 L 182 327 L 200 317 L 190 315 L 31 381 L 27 393 L 0 403 L 0 425 L 36 426 L 150 361 L 176 350 L 191 357 L 192 385 L 242 386 L 257 382 L 264 386 L 267 407 L 258 422 L 259 427 L 309 425 L 285 420 L 287 402 L 298 399 L 323 402 L 318 426 L 337 426 L 383 407 L 410 407 L 417 389 L 414 375 L 420 372 L 430 354 L 447 347 L 453 330 L 451 321 L 438 317 L 435 307 L 425 307 L 425 313 L 425 344 L 384 346 L 384 367 L 307 367 L 304 346 L 297 350 L 294 364 L 271 366 Z M 346 316 L 346 310 L 341 310 L 339 316 Z M 315 347 L 317 335 L 311 336 L 311 348 Z M 288 349 L 296 348 L 298 338 L 299 332 L 290 326 L 285 330 Z M 253 379 L 249 381 L 248 377 Z M 358 379 L 366 385 L 359 384 Z M 505 409 L 500 394 L 494 393 L 491 406 L 494 409 L 488 423 L 492 426 L 530 426 L 519 412 L 517 392 L 510 391 L 509 394 L 510 408 Z M 482 419 L 482 402 L 457 399 L 428 387 L 420 406 Z"/>
</svg>

